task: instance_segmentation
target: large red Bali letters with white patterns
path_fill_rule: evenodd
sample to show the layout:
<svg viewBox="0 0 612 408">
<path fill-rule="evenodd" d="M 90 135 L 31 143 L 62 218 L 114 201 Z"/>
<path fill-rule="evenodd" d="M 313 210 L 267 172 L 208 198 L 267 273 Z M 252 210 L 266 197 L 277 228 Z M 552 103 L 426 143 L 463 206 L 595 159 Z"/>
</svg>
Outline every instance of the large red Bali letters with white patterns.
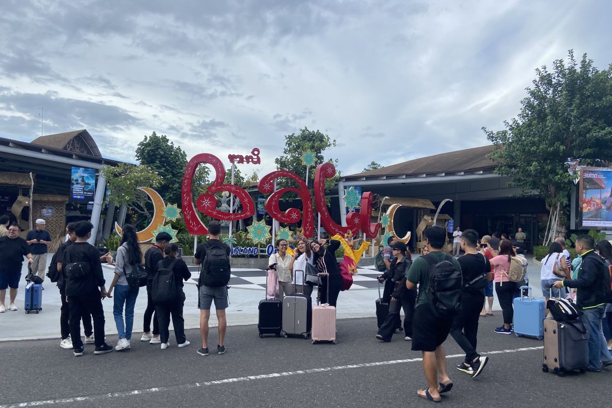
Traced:
<svg viewBox="0 0 612 408">
<path fill-rule="evenodd" d="M 255 149 L 253 149 L 253 153 L 255 153 Z M 259 149 L 257 149 L 257 154 L 259 154 Z M 259 159 L 259 157 L 257 158 Z M 200 195 L 194 202 L 192 193 L 193 175 L 200 164 L 211 165 L 215 171 L 215 179 L 212 184 L 207 187 L 209 192 Z M 361 212 L 351 212 L 346 216 L 347 226 L 338 225 L 332 220 L 325 202 L 325 179 L 334 177 L 335 174 L 336 169 L 331 163 L 324 163 L 316 168 L 314 191 L 315 206 L 316 212 L 321 215 L 321 226 L 323 226 L 323 229 L 330 235 L 340 234 L 343 236 L 348 231 L 357 234 L 360 230 L 364 233 L 365 237 L 376 237 L 381 224 L 371 222 L 373 195 L 370 191 L 363 193 L 361 196 Z M 297 184 L 297 188 L 286 187 L 274 191 L 274 180 L 281 177 L 293 180 Z M 202 153 L 195 155 L 189 160 L 189 163 L 187 163 L 185 176 L 183 177 L 181 197 L 185 224 L 190 234 L 208 234 L 208 229 L 200 220 L 200 217 L 198 217 L 196 209 L 216 220 L 226 221 L 242 220 L 252 217 L 253 214 L 255 214 L 255 205 L 247 191 L 237 185 L 223 184 L 224 179 L 225 167 L 221 160 L 212 154 Z M 298 223 L 301 220 L 304 236 L 308 238 L 313 237 L 314 211 L 312 208 L 312 198 L 302 177 L 287 170 L 272 171 L 259 180 L 257 188 L 264 194 L 272 193 L 266 200 L 266 211 L 272 218 L 282 223 Z M 214 193 L 220 191 L 229 191 L 235 195 L 236 198 L 242 202 L 242 212 L 228 213 L 217 210 L 217 197 L 214 196 Z M 302 201 L 302 212 L 297 208 L 290 208 L 285 212 L 280 210 L 280 198 L 289 191 L 296 193 L 300 201 Z"/>
</svg>

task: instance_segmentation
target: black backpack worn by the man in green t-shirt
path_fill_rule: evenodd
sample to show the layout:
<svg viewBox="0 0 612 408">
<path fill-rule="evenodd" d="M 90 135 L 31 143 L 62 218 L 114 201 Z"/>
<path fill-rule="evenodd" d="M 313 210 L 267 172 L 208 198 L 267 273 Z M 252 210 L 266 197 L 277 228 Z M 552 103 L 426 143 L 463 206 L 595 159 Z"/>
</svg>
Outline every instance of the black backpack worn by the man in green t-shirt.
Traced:
<svg viewBox="0 0 612 408">
<path fill-rule="evenodd" d="M 428 279 L 431 302 L 438 317 L 451 319 L 461 310 L 461 269 L 446 254 L 440 262 L 431 254 L 424 256 L 429 264 Z"/>
</svg>

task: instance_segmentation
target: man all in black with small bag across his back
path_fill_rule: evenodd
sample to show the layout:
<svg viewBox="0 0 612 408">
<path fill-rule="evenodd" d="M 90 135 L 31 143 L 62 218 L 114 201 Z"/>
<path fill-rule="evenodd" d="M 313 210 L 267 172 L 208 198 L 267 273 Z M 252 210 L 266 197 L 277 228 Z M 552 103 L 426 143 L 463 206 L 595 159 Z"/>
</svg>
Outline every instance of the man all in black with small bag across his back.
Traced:
<svg viewBox="0 0 612 408">
<path fill-rule="evenodd" d="M 107 295 L 100 252 L 87 240 L 94 228 L 89 221 L 75 225 L 76 241 L 66 248 L 62 259 L 62 270 L 66 277 L 66 297 L 70 309 L 70 338 L 73 354 L 83 355 L 81 341 L 81 316 L 88 311 L 94 320 L 94 354 L 106 354 L 113 347 L 104 342 L 104 309 L 102 299 Z"/>
</svg>

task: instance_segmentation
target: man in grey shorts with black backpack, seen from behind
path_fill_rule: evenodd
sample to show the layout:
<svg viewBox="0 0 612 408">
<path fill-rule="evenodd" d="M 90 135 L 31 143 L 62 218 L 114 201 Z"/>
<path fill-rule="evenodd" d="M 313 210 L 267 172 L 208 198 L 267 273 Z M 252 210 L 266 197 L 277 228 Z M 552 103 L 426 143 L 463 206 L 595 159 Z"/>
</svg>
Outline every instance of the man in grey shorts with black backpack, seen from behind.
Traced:
<svg viewBox="0 0 612 408">
<path fill-rule="evenodd" d="M 208 224 L 209 239 L 198 245 L 193 255 L 193 263 L 202 264 L 198 279 L 198 308 L 200 309 L 200 335 L 202 347 L 198 354 L 208 355 L 208 321 L 211 317 L 212 301 L 215 301 L 217 312 L 219 342 L 217 354 L 225 354 L 225 330 L 227 322 L 225 309 L 229 306 L 228 287 L 230 281 L 230 247 L 219 240 L 221 223 L 211 221 Z"/>
</svg>

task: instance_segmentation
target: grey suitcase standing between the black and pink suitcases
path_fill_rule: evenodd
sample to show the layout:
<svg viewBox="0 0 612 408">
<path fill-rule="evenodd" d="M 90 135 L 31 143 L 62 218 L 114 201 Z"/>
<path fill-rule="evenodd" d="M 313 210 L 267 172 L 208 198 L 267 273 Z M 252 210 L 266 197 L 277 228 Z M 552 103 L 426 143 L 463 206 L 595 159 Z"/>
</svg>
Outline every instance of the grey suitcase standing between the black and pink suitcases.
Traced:
<svg viewBox="0 0 612 408">
<path fill-rule="evenodd" d="M 297 272 L 302 272 L 302 292 L 304 291 L 304 279 L 306 278 L 303 270 L 296 270 L 294 276 L 294 286 L 296 283 Z M 286 295 L 283 299 L 283 336 L 302 336 L 305 339 L 310 336 L 312 327 L 312 302 L 310 296 L 303 293 Z"/>
</svg>

